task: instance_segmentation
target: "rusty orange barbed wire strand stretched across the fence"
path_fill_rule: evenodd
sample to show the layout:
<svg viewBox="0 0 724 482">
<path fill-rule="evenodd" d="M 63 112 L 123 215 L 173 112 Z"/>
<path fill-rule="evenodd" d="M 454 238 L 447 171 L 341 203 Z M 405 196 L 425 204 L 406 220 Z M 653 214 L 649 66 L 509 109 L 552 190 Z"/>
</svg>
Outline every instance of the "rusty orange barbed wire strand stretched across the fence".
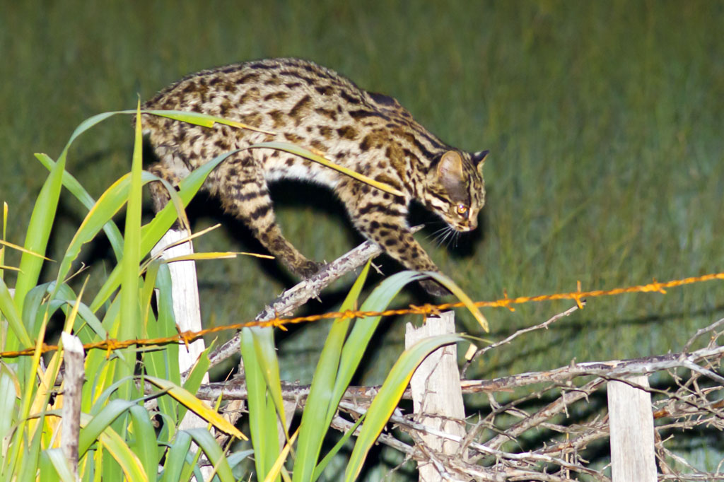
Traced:
<svg viewBox="0 0 724 482">
<path fill-rule="evenodd" d="M 474 303 L 478 308 L 508 308 L 514 311 L 511 305 L 522 305 L 523 303 L 539 303 L 542 301 L 555 301 L 555 300 L 574 300 L 578 304 L 578 308 L 583 308 L 582 300 L 591 297 L 602 297 L 602 296 L 617 296 L 626 293 L 647 293 L 647 292 L 660 292 L 666 293 L 667 288 L 679 287 L 686 284 L 694 284 L 700 282 L 713 281 L 715 279 L 724 280 L 724 272 L 704 274 L 702 276 L 690 276 L 683 279 L 673 279 L 668 282 L 657 282 L 656 279 L 649 284 L 637 284 L 629 287 L 620 287 L 614 289 L 594 289 L 592 291 L 581 291 L 581 284 L 578 282 L 578 289 L 575 292 L 566 293 L 555 293 L 552 295 L 536 295 L 536 296 L 519 296 L 515 298 L 509 298 L 507 294 L 504 295 L 500 300 L 494 301 L 477 301 Z M 361 310 L 345 310 L 345 311 L 332 311 L 328 313 L 321 313 L 318 315 L 307 315 L 307 316 L 295 316 L 292 318 L 272 318 L 266 321 L 247 321 L 245 323 L 230 324 L 224 326 L 214 326 L 213 328 L 203 329 L 201 331 L 180 331 L 178 334 L 170 337 L 161 338 L 146 338 L 146 339 L 105 339 L 98 342 L 86 343 L 83 345 L 83 349 L 88 350 L 106 350 L 107 356 L 110 356 L 114 350 L 121 350 L 123 348 L 131 347 L 136 345 L 138 347 L 149 347 L 159 344 L 169 343 L 180 343 L 183 342 L 188 347 L 190 342 L 195 339 L 203 337 L 206 334 L 217 333 L 219 331 L 227 330 L 240 330 L 243 328 L 258 326 L 274 326 L 279 329 L 286 329 L 285 325 L 290 324 L 301 324 L 311 323 L 314 321 L 325 320 L 329 318 L 367 318 L 371 316 L 397 316 L 397 315 L 423 315 L 429 316 L 439 313 L 442 310 L 449 310 L 450 308 L 461 308 L 463 303 L 442 303 L 440 305 L 409 305 L 408 308 L 396 308 L 383 311 L 361 311 Z M 25 348 L 24 350 L 0 352 L 0 358 L 15 358 L 20 356 L 30 356 L 35 354 L 35 347 Z M 58 350 L 58 346 L 54 344 L 41 344 L 41 354 L 46 352 L 53 352 Z"/>
</svg>

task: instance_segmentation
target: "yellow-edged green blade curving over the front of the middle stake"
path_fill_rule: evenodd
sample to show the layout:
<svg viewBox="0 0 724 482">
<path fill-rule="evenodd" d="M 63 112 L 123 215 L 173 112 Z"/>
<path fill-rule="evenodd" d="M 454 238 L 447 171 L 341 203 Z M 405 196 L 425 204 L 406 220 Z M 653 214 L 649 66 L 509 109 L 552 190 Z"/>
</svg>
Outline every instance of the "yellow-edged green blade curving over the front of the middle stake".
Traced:
<svg viewBox="0 0 724 482">
<path fill-rule="evenodd" d="M 384 384 L 382 384 L 382 388 L 379 389 L 379 393 L 372 400 L 369 410 L 367 410 L 367 418 L 357 437 L 357 443 L 355 443 L 355 448 L 350 455 L 350 462 L 345 471 L 345 481 L 354 481 L 358 477 L 369 449 L 374 445 L 377 437 L 382 432 L 382 428 L 387 424 L 387 420 L 390 420 L 390 415 L 397 407 L 397 403 L 400 402 L 405 388 L 410 383 L 413 373 L 415 373 L 418 365 L 422 363 L 422 360 L 430 352 L 437 350 L 442 345 L 455 343 L 462 339 L 463 337 L 455 334 L 421 339 L 400 355 Z"/>
</svg>

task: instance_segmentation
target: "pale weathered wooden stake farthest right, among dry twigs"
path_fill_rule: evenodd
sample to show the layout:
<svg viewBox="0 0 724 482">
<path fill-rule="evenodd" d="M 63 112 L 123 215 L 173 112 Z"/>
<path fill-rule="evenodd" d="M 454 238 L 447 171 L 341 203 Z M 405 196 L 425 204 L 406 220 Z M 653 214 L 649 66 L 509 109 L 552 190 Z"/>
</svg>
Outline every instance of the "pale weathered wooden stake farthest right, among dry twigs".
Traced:
<svg viewBox="0 0 724 482">
<path fill-rule="evenodd" d="M 626 380 L 649 387 L 647 376 Z M 610 381 L 608 417 L 613 482 L 656 482 L 651 394 L 623 381 Z"/>
</svg>

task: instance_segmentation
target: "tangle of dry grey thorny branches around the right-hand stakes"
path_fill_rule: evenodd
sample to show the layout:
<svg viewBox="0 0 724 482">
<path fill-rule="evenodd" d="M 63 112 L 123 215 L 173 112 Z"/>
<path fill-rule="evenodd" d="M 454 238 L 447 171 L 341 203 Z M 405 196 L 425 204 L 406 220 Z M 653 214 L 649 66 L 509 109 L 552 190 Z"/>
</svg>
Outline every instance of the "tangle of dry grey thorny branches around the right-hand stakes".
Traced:
<svg viewBox="0 0 724 482">
<path fill-rule="evenodd" d="M 560 316 L 554 318 L 559 319 Z M 533 328 L 545 328 L 555 321 L 554 318 Z M 587 412 L 581 404 L 587 404 L 590 396 L 602 389 L 607 381 L 630 384 L 626 381 L 628 376 L 658 373 L 658 385 L 665 383 L 663 379 L 666 377 L 670 380 L 670 388 L 646 389 L 654 397 L 652 418 L 658 424 L 654 426 L 655 453 L 660 470 L 657 480 L 723 481 L 722 468 L 705 473 L 667 447 L 675 437 L 692 428 L 724 431 L 724 386 L 721 384 L 722 376 L 717 373 L 724 358 L 724 347 L 717 344 L 722 334 L 718 330 L 723 327 L 724 321 L 717 321 L 697 331 L 686 344 L 686 350 L 678 353 L 573 363 L 549 371 L 462 381 L 463 393 L 486 393 L 491 400 L 487 413 L 468 420 L 466 436 L 445 433 L 418 423 L 411 420 L 411 415 L 395 413 L 390 419 L 413 441 L 419 440 L 418 434 L 424 433 L 457 442 L 461 447 L 452 456 L 419 444 L 410 445 L 400 440 L 399 435 L 395 436 L 394 431 L 388 431 L 379 441 L 404 452 L 408 459 L 434 464 L 441 474 L 449 475 L 451 480 L 457 480 L 462 474 L 466 478 L 496 482 L 573 481 L 579 476 L 610 482 L 610 475 L 603 469 L 589 467 L 585 458 L 588 453 L 600 457 L 595 453 L 596 447 L 605 447 L 603 442 L 609 437 L 607 415 L 598 409 Z M 511 337 L 530 331 L 521 330 Z M 704 334 L 710 334 L 706 346 L 690 350 L 694 340 Z M 495 347 L 505 347 L 511 337 Z M 578 381 L 580 377 L 589 379 L 581 382 Z M 308 386 L 299 384 L 284 384 L 282 394 L 285 399 L 294 399 L 303 406 L 308 389 Z M 514 397 L 514 390 L 520 392 L 521 389 L 527 392 Z M 348 430 L 352 422 L 346 417 L 354 419 L 365 413 L 378 391 L 379 386 L 350 386 L 340 403 L 340 415 L 334 420 L 334 428 Z M 507 401 L 497 402 L 494 394 L 505 397 Z M 203 385 L 198 396 L 203 399 L 219 396 L 222 399 L 244 399 L 246 389 L 242 380 L 232 380 L 226 384 Z M 410 397 L 409 391 L 404 397 Z M 539 402 L 539 399 L 544 401 Z M 581 413 L 588 415 L 577 415 Z M 600 458 L 598 461 L 601 461 Z"/>
</svg>

